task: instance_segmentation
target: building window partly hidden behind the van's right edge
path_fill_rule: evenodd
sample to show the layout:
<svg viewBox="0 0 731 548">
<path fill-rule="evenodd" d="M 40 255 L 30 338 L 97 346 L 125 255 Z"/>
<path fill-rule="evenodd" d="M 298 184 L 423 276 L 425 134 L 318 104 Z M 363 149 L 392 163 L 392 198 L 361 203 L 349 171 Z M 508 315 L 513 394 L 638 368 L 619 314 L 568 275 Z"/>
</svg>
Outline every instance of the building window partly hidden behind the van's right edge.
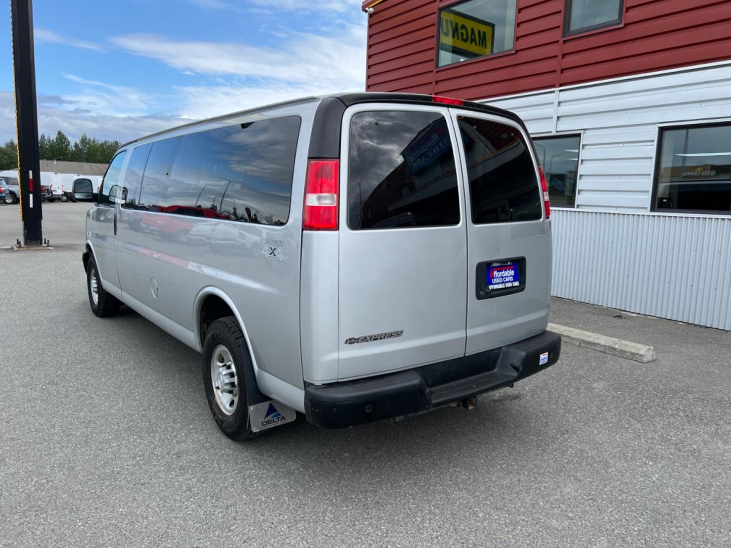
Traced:
<svg viewBox="0 0 731 548">
<path fill-rule="evenodd" d="M 580 135 L 534 139 L 548 183 L 551 207 L 573 208 L 579 174 Z"/>
</svg>

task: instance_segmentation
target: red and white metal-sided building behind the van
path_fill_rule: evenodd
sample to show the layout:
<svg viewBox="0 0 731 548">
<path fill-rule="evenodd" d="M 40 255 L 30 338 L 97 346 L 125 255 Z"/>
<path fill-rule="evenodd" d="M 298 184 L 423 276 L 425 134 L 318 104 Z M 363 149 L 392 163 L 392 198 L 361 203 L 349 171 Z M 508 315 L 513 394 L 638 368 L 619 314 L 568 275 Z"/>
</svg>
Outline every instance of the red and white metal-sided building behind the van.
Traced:
<svg viewBox="0 0 731 548">
<path fill-rule="evenodd" d="M 368 91 L 526 121 L 555 211 L 554 294 L 731 330 L 731 1 L 363 9 Z"/>
</svg>

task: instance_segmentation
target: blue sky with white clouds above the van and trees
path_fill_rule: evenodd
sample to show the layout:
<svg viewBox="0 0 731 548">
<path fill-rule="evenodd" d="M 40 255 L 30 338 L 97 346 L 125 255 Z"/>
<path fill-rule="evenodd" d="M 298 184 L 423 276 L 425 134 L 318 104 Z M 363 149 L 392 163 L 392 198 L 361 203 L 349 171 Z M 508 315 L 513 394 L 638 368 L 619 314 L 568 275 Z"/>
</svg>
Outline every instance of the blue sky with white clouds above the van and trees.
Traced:
<svg viewBox="0 0 731 548">
<path fill-rule="evenodd" d="M 363 90 L 360 0 L 34 0 L 39 132 L 129 140 L 189 119 Z M 0 10 L 0 142 L 15 138 Z"/>
</svg>

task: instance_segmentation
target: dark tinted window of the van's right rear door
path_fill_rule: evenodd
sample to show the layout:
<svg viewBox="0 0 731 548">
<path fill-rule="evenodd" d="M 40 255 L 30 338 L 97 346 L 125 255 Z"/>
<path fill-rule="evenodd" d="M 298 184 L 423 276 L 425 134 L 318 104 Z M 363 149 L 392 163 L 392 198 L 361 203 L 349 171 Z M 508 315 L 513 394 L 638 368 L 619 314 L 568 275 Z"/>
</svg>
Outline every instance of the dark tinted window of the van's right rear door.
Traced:
<svg viewBox="0 0 731 548">
<path fill-rule="evenodd" d="M 542 218 L 536 170 L 518 129 L 460 116 L 474 224 Z"/>
</svg>

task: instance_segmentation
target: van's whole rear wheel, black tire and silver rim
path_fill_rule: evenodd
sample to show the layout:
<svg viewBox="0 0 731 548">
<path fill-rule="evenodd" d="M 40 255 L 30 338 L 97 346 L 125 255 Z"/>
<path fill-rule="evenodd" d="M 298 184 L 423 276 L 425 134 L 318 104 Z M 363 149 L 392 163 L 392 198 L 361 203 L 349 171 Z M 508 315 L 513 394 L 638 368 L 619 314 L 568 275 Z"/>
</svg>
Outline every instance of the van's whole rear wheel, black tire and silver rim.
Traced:
<svg viewBox="0 0 731 548">
<path fill-rule="evenodd" d="M 203 387 L 213 420 L 221 432 L 235 441 L 254 438 L 243 368 L 251 367 L 249 353 L 243 354 L 243 334 L 234 316 L 220 318 L 208 328 L 203 345 Z"/>
</svg>

